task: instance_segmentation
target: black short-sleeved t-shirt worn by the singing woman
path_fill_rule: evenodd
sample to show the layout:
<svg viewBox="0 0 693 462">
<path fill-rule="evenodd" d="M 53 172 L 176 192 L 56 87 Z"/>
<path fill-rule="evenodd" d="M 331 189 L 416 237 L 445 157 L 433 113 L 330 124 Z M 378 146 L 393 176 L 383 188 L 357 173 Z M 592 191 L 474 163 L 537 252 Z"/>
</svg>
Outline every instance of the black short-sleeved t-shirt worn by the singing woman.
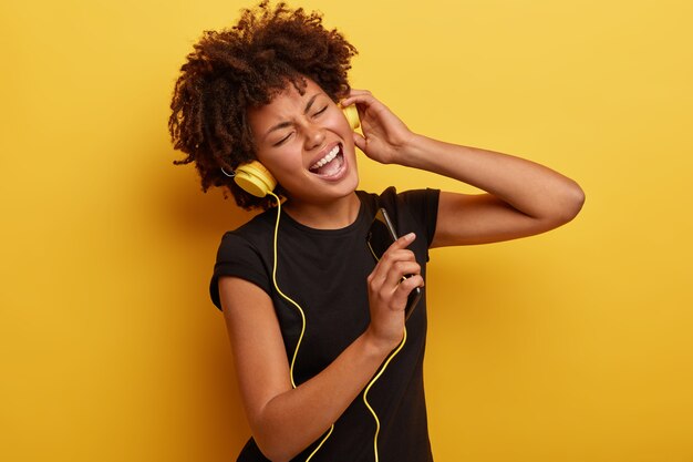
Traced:
<svg viewBox="0 0 693 462">
<path fill-rule="evenodd" d="M 379 207 L 384 207 L 403 236 L 416 233 L 410 246 L 425 278 L 428 247 L 435 233 L 437 189 L 397 194 L 391 187 L 380 196 L 356 192 L 361 208 L 356 220 L 341 229 L 313 229 L 281 214 L 277 236 L 277 285 L 306 314 L 293 377 L 297 386 L 330 365 L 366 329 L 370 321 L 366 278 L 375 266 L 366 235 Z M 272 299 L 291 358 L 301 331 L 301 316 L 272 283 L 277 209 L 269 209 L 234 232 L 226 233 L 217 254 L 210 296 L 220 309 L 218 278 L 236 276 L 256 284 Z M 432 460 L 423 388 L 426 339 L 426 297 L 406 322 L 404 348 L 369 391 L 369 402 L 380 420 L 379 459 L 382 462 Z M 248 307 L 251 309 L 252 307 Z M 334 431 L 311 459 L 314 462 L 370 462 L 374 460 L 375 421 L 358 397 L 334 423 Z M 322 440 L 319 439 L 318 442 Z M 294 458 L 304 461 L 316 442 Z M 250 439 L 239 462 L 267 461 Z"/>
</svg>

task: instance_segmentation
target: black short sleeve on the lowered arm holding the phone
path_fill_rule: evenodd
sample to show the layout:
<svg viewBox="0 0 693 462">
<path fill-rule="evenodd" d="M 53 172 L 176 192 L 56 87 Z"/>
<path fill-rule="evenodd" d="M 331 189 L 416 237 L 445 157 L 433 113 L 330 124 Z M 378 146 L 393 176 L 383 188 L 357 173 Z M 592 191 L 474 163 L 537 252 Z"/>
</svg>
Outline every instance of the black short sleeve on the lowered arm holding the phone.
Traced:
<svg viewBox="0 0 693 462">
<path fill-rule="evenodd" d="M 219 278 L 223 276 L 246 279 L 271 295 L 269 271 L 265 259 L 251 243 L 234 233 L 227 233 L 221 238 L 209 284 L 209 296 L 219 309 L 221 309 Z"/>
</svg>

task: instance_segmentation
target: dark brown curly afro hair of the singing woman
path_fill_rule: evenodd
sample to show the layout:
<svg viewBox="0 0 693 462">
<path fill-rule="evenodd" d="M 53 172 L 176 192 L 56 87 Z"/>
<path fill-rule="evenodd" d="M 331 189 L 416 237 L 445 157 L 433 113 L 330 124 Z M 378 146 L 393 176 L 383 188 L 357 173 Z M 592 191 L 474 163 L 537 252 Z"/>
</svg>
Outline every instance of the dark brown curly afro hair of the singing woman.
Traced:
<svg viewBox="0 0 693 462">
<path fill-rule="evenodd" d="M 168 131 L 174 147 L 186 154 L 174 164 L 194 162 L 204 192 L 227 187 L 240 207 L 269 208 L 269 197 L 246 193 L 221 172 L 256 158 L 247 110 L 269 104 L 290 84 L 303 94 L 306 78 L 339 101 L 349 93 L 355 54 L 340 32 L 322 25 L 321 13 L 283 2 L 272 9 L 263 0 L 244 9 L 231 29 L 205 31 L 174 89 Z M 286 196 L 280 186 L 276 193 Z"/>
</svg>

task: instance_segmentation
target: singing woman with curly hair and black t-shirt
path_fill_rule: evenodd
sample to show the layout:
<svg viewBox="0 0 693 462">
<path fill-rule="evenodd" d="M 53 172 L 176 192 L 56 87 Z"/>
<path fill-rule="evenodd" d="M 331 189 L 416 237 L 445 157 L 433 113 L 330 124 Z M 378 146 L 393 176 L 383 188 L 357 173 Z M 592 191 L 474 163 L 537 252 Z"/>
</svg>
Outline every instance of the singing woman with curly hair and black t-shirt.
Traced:
<svg viewBox="0 0 693 462">
<path fill-rule="evenodd" d="M 224 311 L 252 438 L 239 461 L 430 461 L 423 352 L 427 249 L 560 226 L 580 211 L 571 179 L 538 164 L 411 132 L 346 80 L 355 49 L 318 13 L 245 10 L 206 32 L 176 83 L 169 130 L 203 188 L 266 211 L 227 233 L 210 285 Z M 355 105 L 363 136 L 341 109 Z M 355 147 L 484 189 L 358 191 Z M 232 179 L 259 161 L 278 199 Z M 402 235 L 373 258 L 383 207 Z M 275 245 L 276 240 L 276 245 Z M 407 297 L 424 296 L 405 321 Z"/>
</svg>

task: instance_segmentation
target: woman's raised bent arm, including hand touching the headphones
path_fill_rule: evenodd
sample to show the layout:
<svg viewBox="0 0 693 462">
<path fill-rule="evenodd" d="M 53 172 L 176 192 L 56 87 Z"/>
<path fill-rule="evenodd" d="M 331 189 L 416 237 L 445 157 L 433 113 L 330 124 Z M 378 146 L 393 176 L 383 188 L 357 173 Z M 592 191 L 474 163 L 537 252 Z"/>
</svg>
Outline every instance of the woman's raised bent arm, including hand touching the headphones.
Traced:
<svg viewBox="0 0 693 462">
<path fill-rule="evenodd" d="M 486 194 L 442 193 L 433 247 L 515 239 L 570 222 L 585 194 L 576 182 L 537 163 L 411 132 L 368 91 L 352 91 L 365 137 L 356 146 L 384 164 L 421 168 L 458 179 Z"/>
</svg>

